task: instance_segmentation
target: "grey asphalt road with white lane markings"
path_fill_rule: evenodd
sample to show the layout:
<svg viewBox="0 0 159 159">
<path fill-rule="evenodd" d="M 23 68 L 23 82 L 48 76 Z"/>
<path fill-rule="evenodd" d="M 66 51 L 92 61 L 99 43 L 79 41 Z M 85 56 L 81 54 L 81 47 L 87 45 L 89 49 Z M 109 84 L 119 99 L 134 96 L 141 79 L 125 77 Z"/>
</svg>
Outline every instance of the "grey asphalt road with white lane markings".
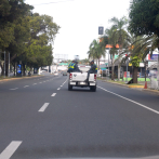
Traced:
<svg viewBox="0 0 159 159">
<path fill-rule="evenodd" d="M 0 159 L 159 156 L 159 96 L 67 77 L 0 81 Z"/>
</svg>

